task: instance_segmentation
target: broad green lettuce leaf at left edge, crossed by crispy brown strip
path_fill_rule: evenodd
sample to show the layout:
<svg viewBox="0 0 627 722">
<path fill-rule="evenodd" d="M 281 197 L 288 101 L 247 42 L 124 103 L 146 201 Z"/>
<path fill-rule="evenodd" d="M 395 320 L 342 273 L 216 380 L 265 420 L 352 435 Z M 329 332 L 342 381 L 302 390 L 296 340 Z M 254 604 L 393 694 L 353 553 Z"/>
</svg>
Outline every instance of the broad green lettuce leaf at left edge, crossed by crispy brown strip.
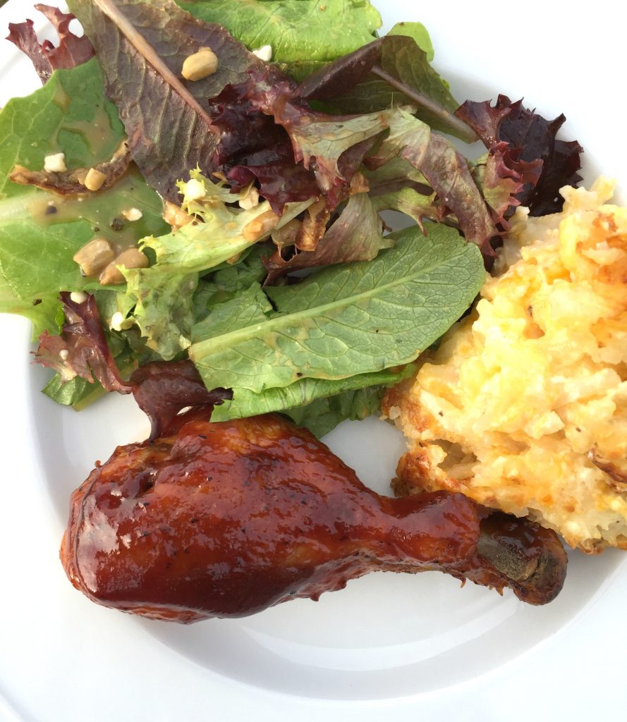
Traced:
<svg viewBox="0 0 627 722">
<path fill-rule="evenodd" d="M 56 152 L 64 152 L 68 168 L 89 168 L 111 157 L 122 139 L 124 129 L 115 106 L 103 95 L 95 59 L 56 71 L 44 87 L 10 100 L 2 110 L 0 271 L 17 299 L 42 300 L 51 308 L 51 298 L 59 291 L 97 285 L 82 277 L 72 259 L 96 235 L 124 245 L 168 228 L 159 196 L 137 169 L 108 191 L 80 199 L 9 180 L 14 165 L 40 170 L 46 155 Z M 113 230 L 114 219 L 119 221 L 130 208 L 139 209 L 142 218 Z"/>
</svg>

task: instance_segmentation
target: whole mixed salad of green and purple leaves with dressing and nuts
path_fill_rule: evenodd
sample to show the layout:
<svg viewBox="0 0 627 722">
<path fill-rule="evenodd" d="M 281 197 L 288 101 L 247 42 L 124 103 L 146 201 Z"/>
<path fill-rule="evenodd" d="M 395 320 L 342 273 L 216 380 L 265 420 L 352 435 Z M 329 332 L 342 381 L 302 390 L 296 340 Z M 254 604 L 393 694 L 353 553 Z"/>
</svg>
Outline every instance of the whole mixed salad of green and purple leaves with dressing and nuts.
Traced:
<svg viewBox="0 0 627 722">
<path fill-rule="evenodd" d="M 60 404 L 134 393 L 153 435 L 204 403 L 317 435 L 376 413 L 514 207 L 579 181 L 563 116 L 460 104 L 425 27 L 380 36 L 368 0 L 68 4 L 85 36 L 45 5 L 56 47 L 10 26 L 43 87 L 0 114 L 0 311 Z"/>
</svg>

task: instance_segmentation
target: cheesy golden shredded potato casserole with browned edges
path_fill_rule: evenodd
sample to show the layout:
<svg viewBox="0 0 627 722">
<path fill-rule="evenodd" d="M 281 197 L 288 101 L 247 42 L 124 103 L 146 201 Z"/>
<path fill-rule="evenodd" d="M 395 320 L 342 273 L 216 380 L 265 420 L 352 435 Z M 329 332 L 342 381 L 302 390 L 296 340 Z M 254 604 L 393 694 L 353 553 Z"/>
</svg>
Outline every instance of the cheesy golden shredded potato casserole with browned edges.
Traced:
<svg viewBox="0 0 627 722">
<path fill-rule="evenodd" d="M 627 208 L 613 183 L 519 208 L 472 315 L 392 388 L 397 493 L 461 491 L 573 547 L 627 548 Z"/>
</svg>

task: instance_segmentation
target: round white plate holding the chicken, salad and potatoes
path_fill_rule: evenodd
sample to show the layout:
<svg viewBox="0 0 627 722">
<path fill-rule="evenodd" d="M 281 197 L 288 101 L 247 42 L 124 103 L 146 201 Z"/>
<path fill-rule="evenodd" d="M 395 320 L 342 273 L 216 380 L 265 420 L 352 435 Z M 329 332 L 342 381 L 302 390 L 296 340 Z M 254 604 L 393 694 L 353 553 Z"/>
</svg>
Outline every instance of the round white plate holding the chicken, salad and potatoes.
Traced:
<svg viewBox="0 0 627 722">
<path fill-rule="evenodd" d="M 563 111 L 563 136 L 587 151 L 587 181 L 603 170 L 622 175 L 624 190 L 618 19 L 537 0 L 511 14 L 496 1 L 420 11 L 409 0 L 379 4 L 386 27 L 427 25 L 436 66 L 459 100 L 504 92 L 547 117 Z M 9 1 L 0 27 L 33 17 L 27 7 Z M 0 103 L 38 85 L 9 43 L 0 43 L 0 78 Z M 121 397 L 81 414 L 56 406 L 38 391 L 46 374 L 28 363 L 27 323 L 3 316 L 0 329 L 0 719 L 584 720 L 627 702 L 627 557 L 619 552 L 571 554 L 563 592 L 540 608 L 510 593 L 460 589 L 438 573 L 370 575 L 317 604 L 191 627 L 91 604 L 58 560 L 69 492 L 96 458 L 147 424 Z M 329 444 L 386 492 L 403 448 L 392 428 L 345 424 Z"/>
</svg>

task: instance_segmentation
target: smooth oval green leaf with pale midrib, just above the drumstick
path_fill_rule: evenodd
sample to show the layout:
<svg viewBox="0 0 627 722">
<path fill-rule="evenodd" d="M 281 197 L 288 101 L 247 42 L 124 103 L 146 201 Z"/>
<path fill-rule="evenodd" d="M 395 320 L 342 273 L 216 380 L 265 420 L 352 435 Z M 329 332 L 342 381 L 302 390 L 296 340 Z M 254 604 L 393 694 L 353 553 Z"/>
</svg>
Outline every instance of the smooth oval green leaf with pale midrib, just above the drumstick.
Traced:
<svg viewBox="0 0 627 722">
<path fill-rule="evenodd" d="M 300 284 L 251 287 L 192 328 L 207 388 L 340 380 L 414 360 L 457 321 L 485 278 L 477 248 L 440 225 L 392 234 L 373 261 L 331 266 Z M 269 300 L 272 304 L 269 303 Z"/>
</svg>

